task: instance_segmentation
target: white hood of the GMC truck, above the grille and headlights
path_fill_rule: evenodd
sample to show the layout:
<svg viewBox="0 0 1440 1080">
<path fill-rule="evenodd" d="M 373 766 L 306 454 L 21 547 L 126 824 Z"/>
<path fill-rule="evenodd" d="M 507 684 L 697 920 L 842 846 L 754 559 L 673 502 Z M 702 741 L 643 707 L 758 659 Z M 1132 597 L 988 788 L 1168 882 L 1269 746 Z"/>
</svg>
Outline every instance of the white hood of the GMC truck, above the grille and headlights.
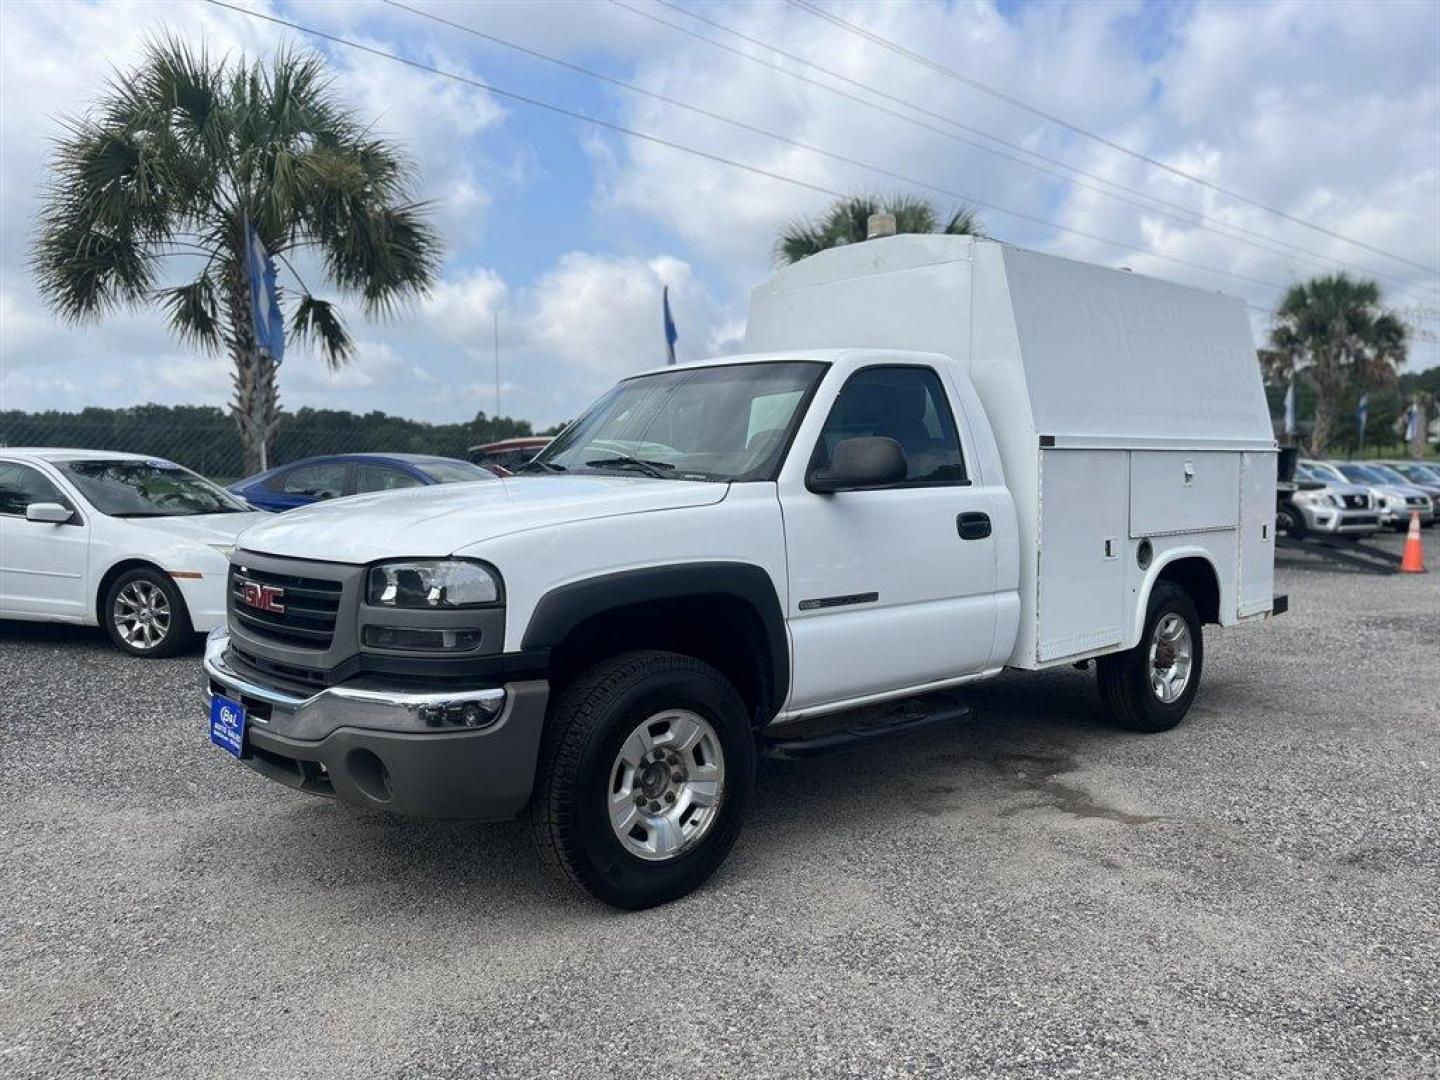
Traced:
<svg viewBox="0 0 1440 1080">
<path fill-rule="evenodd" d="M 261 514 L 264 524 L 246 531 L 240 546 L 262 554 L 336 563 L 446 556 L 530 528 L 710 505 L 727 491 L 729 484 L 600 475 L 436 484 Z"/>
</svg>

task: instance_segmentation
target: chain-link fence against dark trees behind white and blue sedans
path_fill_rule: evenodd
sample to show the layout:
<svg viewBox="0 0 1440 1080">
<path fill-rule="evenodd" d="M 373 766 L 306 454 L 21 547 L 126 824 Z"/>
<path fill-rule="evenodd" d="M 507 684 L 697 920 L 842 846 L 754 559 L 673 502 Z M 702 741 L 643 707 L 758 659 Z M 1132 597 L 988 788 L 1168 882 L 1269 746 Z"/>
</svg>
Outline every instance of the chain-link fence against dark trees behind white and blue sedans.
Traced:
<svg viewBox="0 0 1440 1080">
<path fill-rule="evenodd" d="M 527 420 L 480 413 L 465 423 L 425 423 L 384 413 L 301 409 L 282 413 L 269 445 L 269 464 L 321 454 L 438 454 L 465 458 L 485 442 L 531 435 Z M 78 413 L 0 412 L 0 446 L 68 446 L 124 451 L 179 462 L 229 484 L 245 475 L 235 422 L 210 406 L 85 409 Z"/>
</svg>

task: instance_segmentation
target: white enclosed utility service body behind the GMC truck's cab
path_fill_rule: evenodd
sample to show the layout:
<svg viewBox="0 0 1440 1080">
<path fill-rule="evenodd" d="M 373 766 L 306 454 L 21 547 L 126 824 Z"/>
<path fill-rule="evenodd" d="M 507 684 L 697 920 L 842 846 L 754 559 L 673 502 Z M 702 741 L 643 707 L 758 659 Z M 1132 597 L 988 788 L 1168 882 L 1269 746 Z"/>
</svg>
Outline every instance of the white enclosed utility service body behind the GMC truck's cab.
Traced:
<svg viewBox="0 0 1440 1080">
<path fill-rule="evenodd" d="M 896 236 L 752 294 L 747 348 L 838 346 L 943 356 L 985 484 L 1014 500 L 1007 665 L 1133 647 L 1176 559 L 1211 566 L 1221 625 L 1270 612 L 1276 445 L 1240 301 L 994 240 Z"/>
</svg>

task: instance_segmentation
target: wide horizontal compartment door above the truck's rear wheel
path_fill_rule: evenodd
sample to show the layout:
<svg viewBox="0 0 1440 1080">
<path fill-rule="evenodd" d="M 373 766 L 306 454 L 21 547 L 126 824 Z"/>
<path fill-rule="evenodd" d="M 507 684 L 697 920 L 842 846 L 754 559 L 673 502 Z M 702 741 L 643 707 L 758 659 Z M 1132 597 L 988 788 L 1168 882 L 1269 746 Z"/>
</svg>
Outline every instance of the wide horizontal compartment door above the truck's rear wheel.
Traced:
<svg viewBox="0 0 1440 1080">
<path fill-rule="evenodd" d="M 1234 528 L 1238 517 L 1238 452 L 1130 452 L 1130 536 Z"/>
</svg>

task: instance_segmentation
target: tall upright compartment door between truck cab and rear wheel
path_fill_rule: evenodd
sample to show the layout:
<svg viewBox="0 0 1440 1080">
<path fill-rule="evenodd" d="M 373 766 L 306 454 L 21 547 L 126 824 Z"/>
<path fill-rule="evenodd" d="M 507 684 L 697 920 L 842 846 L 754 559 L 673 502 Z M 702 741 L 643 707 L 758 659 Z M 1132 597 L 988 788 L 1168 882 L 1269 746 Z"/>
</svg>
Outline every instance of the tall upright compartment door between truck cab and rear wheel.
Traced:
<svg viewBox="0 0 1440 1080">
<path fill-rule="evenodd" d="M 1129 491 L 1126 451 L 1041 451 L 1037 661 L 1122 644 Z"/>
</svg>

